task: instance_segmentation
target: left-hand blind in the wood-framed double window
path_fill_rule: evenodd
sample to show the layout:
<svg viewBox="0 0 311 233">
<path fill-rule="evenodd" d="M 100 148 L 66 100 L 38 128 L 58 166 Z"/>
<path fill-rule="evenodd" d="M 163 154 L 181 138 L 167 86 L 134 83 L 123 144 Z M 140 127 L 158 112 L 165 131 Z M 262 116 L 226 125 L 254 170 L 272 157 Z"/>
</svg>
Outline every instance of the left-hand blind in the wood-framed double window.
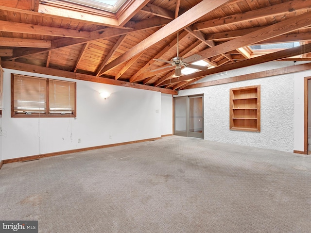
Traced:
<svg viewBox="0 0 311 233">
<path fill-rule="evenodd" d="M 46 112 L 47 80 L 14 74 L 14 111 Z"/>
</svg>

